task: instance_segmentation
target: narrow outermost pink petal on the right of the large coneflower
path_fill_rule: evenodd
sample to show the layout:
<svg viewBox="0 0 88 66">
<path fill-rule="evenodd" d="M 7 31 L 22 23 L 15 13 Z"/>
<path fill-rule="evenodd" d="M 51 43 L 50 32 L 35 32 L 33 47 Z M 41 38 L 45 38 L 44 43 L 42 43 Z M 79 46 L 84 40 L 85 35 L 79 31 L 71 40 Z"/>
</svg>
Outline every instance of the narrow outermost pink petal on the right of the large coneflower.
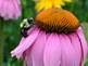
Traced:
<svg viewBox="0 0 88 66">
<path fill-rule="evenodd" d="M 81 45 L 81 49 L 83 49 L 83 57 L 84 57 L 84 63 L 85 63 L 85 60 L 86 60 L 86 57 L 87 57 L 88 48 L 87 48 L 87 41 L 86 41 L 86 39 L 85 39 L 85 36 L 84 36 L 84 32 L 83 32 L 81 27 L 79 27 L 79 28 L 77 29 L 77 35 L 78 35 L 79 40 L 80 40 L 80 42 L 81 42 L 80 45 Z"/>
</svg>

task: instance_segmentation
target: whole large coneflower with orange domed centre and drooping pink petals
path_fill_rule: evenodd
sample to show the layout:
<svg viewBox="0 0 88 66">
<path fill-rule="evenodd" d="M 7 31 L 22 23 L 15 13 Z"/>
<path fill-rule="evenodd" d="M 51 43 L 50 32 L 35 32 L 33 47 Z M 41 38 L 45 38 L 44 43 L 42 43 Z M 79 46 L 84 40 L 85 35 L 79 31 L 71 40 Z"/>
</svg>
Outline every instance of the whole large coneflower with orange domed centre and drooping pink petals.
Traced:
<svg viewBox="0 0 88 66">
<path fill-rule="evenodd" d="M 49 9 L 35 17 L 27 37 L 11 54 L 23 57 L 25 66 L 84 66 L 87 42 L 70 11 Z"/>
</svg>

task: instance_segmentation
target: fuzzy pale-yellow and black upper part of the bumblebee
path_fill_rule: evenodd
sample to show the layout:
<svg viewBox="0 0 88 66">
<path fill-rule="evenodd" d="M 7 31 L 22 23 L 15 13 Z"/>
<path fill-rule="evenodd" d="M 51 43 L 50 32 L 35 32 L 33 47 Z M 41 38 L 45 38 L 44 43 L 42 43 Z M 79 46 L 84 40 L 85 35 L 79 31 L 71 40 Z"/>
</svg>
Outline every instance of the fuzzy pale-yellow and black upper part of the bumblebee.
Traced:
<svg viewBox="0 0 88 66">
<path fill-rule="evenodd" d="M 33 17 L 24 18 L 23 22 L 21 23 L 21 28 L 29 28 L 29 27 L 32 27 L 32 25 L 34 25 Z"/>
</svg>

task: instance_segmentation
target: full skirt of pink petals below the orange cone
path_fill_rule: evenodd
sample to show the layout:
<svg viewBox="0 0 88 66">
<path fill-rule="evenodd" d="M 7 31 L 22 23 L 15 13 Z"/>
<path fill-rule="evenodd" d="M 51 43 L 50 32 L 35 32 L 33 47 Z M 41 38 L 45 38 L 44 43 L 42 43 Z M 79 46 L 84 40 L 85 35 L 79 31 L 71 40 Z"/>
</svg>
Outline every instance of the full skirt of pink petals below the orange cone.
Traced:
<svg viewBox="0 0 88 66">
<path fill-rule="evenodd" d="M 81 27 L 65 35 L 46 32 L 34 26 L 11 53 L 17 58 L 23 57 L 27 66 L 83 66 L 87 42 Z"/>
</svg>

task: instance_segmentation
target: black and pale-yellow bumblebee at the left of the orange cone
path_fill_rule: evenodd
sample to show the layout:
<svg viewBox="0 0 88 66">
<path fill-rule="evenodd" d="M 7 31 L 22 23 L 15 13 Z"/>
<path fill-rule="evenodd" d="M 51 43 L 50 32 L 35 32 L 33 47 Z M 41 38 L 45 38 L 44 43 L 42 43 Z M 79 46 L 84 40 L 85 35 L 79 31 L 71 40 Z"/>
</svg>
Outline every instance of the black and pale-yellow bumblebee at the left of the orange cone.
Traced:
<svg viewBox="0 0 88 66">
<path fill-rule="evenodd" d="M 21 23 L 21 34 L 23 37 L 27 37 L 27 30 L 34 25 L 34 18 L 24 18 L 23 22 Z"/>
</svg>

